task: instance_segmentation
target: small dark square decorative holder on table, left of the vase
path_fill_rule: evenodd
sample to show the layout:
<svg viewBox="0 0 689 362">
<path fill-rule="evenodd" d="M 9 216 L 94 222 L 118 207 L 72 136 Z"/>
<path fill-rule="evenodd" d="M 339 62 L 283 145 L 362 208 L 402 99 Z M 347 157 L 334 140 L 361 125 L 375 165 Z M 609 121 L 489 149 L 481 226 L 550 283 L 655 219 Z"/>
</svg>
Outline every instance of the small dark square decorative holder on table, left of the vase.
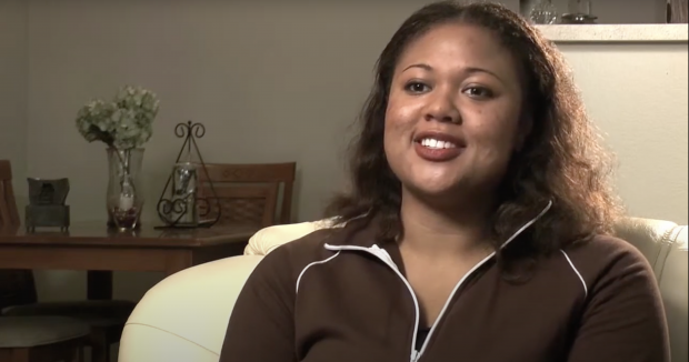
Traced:
<svg viewBox="0 0 689 362">
<path fill-rule="evenodd" d="M 29 204 L 26 208 L 27 231 L 36 228 L 60 228 L 69 230 L 69 205 L 64 204 L 69 193 L 69 179 L 42 180 L 28 178 Z"/>
</svg>

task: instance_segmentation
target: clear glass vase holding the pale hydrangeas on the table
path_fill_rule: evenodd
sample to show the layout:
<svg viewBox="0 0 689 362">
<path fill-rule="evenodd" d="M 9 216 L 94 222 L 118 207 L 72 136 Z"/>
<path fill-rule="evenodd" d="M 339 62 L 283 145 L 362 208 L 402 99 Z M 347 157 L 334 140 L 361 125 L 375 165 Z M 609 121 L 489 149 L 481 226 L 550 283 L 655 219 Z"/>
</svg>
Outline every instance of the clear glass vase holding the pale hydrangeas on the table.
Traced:
<svg viewBox="0 0 689 362">
<path fill-rule="evenodd" d="M 133 230 L 140 224 L 143 208 L 141 165 L 143 149 L 108 148 L 108 225 Z"/>
</svg>

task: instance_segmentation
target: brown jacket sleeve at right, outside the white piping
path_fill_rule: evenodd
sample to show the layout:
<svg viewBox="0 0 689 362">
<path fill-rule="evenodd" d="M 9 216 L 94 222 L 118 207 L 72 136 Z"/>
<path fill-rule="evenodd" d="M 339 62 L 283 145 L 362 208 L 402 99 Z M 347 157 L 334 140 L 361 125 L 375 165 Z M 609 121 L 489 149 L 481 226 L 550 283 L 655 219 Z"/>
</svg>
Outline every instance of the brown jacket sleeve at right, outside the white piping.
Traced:
<svg viewBox="0 0 689 362">
<path fill-rule="evenodd" d="M 643 254 L 609 235 L 562 252 L 587 289 L 570 361 L 669 361 L 663 302 Z"/>
</svg>

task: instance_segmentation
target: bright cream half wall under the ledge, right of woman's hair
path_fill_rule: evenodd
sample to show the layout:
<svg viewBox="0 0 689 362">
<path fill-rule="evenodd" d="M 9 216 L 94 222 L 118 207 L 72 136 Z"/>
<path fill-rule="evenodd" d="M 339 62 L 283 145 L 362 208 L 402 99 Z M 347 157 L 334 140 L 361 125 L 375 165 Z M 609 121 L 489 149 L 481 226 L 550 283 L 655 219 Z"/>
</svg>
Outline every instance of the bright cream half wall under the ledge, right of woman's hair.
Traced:
<svg viewBox="0 0 689 362">
<path fill-rule="evenodd" d="M 629 212 L 687 223 L 687 42 L 563 44 Z"/>
</svg>

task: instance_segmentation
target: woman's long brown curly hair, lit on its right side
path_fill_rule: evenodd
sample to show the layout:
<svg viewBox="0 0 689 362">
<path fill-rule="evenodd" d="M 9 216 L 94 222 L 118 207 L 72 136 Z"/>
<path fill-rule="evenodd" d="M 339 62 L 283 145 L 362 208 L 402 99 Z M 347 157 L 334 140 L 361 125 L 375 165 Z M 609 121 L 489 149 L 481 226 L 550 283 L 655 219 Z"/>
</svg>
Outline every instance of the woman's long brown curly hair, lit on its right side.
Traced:
<svg viewBox="0 0 689 362">
<path fill-rule="evenodd" d="M 376 83 L 359 118 L 360 132 L 351 147 L 351 190 L 332 200 L 327 215 L 340 222 L 366 214 L 382 225 L 381 237 L 403 233 L 401 184 L 383 151 L 386 108 L 395 67 L 405 48 L 435 26 L 460 22 L 490 30 L 520 63 L 526 111 L 532 121 L 523 148 L 513 154 L 492 213 L 495 249 L 500 250 L 549 201 L 552 207 L 518 238 L 520 248 L 507 253 L 538 257 L 596 234 L 609 234 L 621 215 L 610 188 L 612 155 L 600 143 L 556 47 L 523 18 L 500 4 L 428 4 L 393 34 L 376 66 Z"/>
</svg>

